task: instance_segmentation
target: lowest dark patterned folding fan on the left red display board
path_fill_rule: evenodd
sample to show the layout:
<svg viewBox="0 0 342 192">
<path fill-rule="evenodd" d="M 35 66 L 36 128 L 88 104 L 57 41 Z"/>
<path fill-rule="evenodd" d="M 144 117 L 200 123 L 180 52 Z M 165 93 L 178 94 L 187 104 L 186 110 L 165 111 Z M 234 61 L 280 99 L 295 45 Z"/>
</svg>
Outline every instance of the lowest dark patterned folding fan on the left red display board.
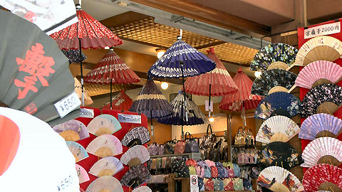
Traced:
<svg viewBox="0 0 342 192">
<path fill-rule="evenodd" d="M 138 186 L 150 180 L 150 171 L 144 165 L 130 167 L 126 174 L 121 178 L 120 183 L 123 186 L 137 188 Z"/>
</svg>

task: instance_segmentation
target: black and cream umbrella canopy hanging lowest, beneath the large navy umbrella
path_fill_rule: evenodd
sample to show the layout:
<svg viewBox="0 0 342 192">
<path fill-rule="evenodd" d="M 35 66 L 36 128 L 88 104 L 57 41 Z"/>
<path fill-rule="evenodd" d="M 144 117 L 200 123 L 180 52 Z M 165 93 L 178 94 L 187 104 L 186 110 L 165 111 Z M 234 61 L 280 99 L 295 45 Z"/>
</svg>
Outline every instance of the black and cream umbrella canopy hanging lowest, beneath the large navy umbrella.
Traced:
<svg viewBox="0 0 342 192">
<path fill-rule="evenodd" d="M 182 125 L 182 102 L 184 101 L 183 96 L 184 95 L 182 91 L 178 92 L 175 100 L 170 103 L 174 113 L 169 117 L 158 119 L 158 122 L 162 124 Z M 195 102 L 192 102 L 188 97 L 186 97 L 185 104 L 187 119 L 185 118 L 185 115 L 183 115 L 183 125 L 204 124 L 207 122 L 207 117 L 205 117 L 202 111 L 199 110 Z"/>
</svg>

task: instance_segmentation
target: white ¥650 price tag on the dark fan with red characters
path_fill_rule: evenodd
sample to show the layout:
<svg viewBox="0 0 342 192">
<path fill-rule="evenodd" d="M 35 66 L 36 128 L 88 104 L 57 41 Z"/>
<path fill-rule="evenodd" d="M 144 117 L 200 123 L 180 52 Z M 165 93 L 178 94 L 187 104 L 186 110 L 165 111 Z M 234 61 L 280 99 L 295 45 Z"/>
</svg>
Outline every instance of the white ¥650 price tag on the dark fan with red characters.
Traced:
<svg viewBox="0 0 342 192">
<path fill-rule="evenodd" d="M 61 118 L 75 110 L 80 105 L 81 100 L 78 99 L 76 92 L 72 92 L 70 95 L 55 103 L 56 110 Z"/>
</svg>

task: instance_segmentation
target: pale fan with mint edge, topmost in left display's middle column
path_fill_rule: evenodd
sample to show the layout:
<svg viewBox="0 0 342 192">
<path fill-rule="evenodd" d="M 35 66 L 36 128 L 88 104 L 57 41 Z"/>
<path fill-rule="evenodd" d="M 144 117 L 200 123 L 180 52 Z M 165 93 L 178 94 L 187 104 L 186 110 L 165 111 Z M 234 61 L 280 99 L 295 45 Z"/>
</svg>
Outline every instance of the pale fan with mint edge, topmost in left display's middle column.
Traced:
<svg viewBox="0 0 342 192">
<path fill-rule="evenodd" d="M 110 114 L 100 114 L 88 124 L 88 131 L 96 136 L 113 134 L 121 129 L 121 124 Z"/>
</svg>

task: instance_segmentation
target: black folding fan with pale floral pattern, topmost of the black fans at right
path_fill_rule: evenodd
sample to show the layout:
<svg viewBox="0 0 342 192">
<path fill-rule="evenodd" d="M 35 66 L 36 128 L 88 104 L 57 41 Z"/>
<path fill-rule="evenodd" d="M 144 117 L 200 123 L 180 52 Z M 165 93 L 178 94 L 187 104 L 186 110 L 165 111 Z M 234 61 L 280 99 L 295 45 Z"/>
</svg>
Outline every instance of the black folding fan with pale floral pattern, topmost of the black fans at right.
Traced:
<svg viewBox="0 0 342 192">
<path fill-rule="evenodd" d="M 286 69 L 296 59 L 298 49 L 284 43 L 272 43 L 261 48 L 252 60 L 251 70 Z"/>
</svg>

